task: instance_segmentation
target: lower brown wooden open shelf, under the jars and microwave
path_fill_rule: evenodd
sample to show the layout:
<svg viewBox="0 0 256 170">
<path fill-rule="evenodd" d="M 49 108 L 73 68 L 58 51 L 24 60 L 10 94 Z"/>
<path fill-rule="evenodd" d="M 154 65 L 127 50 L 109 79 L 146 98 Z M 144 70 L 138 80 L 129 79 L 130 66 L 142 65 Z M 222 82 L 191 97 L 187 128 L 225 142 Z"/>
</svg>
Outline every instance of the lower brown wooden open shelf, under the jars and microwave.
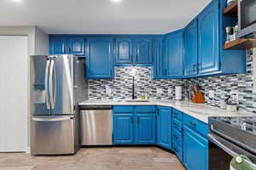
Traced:
<svg viewBox="0 0 256 170">
<path fill-rule="evenodd" d="M 256 39 L 240 38 L 224 44 L 224 49 L 256 48 Z"/>
</svg>

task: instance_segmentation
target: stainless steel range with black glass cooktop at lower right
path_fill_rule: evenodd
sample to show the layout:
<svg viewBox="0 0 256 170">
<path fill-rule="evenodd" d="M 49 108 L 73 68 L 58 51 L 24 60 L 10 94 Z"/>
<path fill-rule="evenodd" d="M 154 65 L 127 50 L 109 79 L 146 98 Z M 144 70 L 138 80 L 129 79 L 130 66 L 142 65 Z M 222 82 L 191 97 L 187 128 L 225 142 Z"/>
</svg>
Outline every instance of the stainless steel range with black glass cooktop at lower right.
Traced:
<svg viewBox="0 0 256 170">
<path fill-rule="evenodd" d="M 209 118 L 209 169 L 230 169 L 233 156 L 244 155 L 256 169 L 256 116 Z"/>
</svg>

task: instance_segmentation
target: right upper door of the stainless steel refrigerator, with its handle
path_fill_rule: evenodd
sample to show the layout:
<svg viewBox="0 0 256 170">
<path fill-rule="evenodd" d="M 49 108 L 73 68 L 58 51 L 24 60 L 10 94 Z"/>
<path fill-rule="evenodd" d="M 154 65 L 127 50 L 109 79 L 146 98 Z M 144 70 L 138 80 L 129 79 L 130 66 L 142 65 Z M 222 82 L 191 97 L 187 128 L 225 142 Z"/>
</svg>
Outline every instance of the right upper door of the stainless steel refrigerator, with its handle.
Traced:
<svg viewBox="0 0 256 170">
<path fill-rule="evenodd" d="M 73 55 L 55 55 L 49 66 L 51 115 L 74 114 Z"/>
</svg>

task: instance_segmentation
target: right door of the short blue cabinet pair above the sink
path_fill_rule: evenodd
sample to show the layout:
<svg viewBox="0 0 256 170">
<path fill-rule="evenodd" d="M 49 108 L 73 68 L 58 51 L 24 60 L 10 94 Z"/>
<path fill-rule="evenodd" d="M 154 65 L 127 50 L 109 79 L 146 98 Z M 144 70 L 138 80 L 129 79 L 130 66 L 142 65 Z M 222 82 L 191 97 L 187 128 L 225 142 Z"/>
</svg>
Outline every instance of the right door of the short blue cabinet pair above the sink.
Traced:
<svg viewBox="0 0 256 170">
<path fill-rule="evenodd" d="M 133 62 L 136 64 L 152 63 L 152 39 L 137 38 L 133 41 Z"/>
</svg>

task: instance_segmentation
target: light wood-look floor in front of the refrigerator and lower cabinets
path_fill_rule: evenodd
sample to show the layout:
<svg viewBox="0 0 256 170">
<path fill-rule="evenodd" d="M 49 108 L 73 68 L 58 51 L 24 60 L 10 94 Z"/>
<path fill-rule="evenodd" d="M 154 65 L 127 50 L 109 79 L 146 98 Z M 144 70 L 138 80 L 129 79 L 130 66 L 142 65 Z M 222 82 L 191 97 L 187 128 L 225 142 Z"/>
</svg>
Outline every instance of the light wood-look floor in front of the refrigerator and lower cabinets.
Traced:
<svg viewBox="0 0 256 170">
<path fill-rule="evenodd" d="M 184 170 L 177 157 L 157 147 L 82 148 L 74 156 L 0 153 L 0 170 Z"/>
</svg>

